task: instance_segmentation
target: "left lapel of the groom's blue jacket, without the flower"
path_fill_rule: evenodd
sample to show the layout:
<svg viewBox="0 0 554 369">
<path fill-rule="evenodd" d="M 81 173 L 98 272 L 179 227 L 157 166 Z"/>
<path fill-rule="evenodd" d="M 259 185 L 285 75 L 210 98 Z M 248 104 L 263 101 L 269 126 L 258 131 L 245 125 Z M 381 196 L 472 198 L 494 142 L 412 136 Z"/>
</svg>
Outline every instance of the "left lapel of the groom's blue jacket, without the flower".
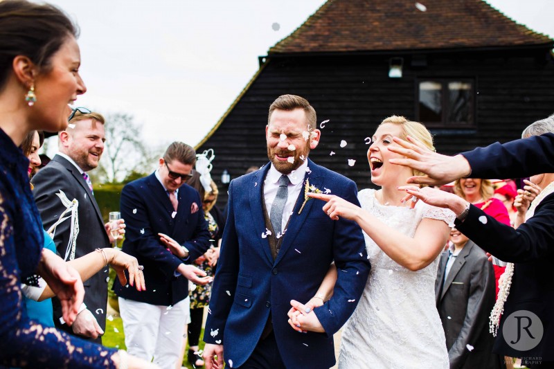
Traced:
<svg viewBox="0 0 554 369">
<path fill-rule="evenodd" d="M 274 264 L 273 256 L 271 256 L 271 250 L 269 249 L 269 242 L 267 238 L 262 237 L 262 233 L 265 231 L 265 217 L 263 213 L 262 201 L 265 201 L 263 193 L 263 181 L 270 167 L 270 163 L 266 164 L 262 170 L 253 172 L 251 183 L 249 184 L 249 198 L 250 198 L 250 214 L 252 215 L 252 224 L 254 230 L 254 238 L 259 240 L 260 248 L 265 253 L 269 264 Z"/>
</svg>

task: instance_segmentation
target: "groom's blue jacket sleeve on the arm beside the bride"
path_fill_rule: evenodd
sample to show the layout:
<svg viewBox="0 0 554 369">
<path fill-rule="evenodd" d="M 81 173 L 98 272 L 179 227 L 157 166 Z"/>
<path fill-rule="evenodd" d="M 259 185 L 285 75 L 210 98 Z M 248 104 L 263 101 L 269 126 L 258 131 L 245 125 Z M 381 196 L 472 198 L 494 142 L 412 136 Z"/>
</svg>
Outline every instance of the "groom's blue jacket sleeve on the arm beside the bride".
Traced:
<svg viewBox="0 0 554 369">
<path fill-rule="evenodd" d="M 349 181 L 341 197 L 359 206 L 354 182 Z M 364 235 L 355 222 L 346 219 L 337 221 L 333 237 L 333 255 L 337 267 L 337 282 L 334 285 L 333 296 L 323 306 L 314 309 L 328 336 L 337 332 L 356 309 L 371 268 Z"/>
</svg>

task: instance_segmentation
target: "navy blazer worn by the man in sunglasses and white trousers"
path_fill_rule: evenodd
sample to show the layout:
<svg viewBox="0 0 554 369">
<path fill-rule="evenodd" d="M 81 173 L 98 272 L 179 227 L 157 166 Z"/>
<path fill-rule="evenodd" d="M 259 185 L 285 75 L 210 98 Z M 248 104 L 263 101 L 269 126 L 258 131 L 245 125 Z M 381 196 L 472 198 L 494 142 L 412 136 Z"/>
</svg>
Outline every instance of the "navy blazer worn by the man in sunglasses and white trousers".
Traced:
<svg viewBox="0 0 554 369">
<path fill-rule="evenodd" d="M 175 305 L 188 296 L 188 279 L 175 270 L 179 264 L 190 264 L 206 252 L 210 234 L 198 191 L 184 184 L 177 199 L 179 206 L 174 217 L 168 193 L 154 173 L 123 187 L 120 211 L 127 225 L 123 251 L 144 266 L 146 291 L 124 287 L 116 278 L 114 291 L 118 296 L 165 306 Z M 195 213 L 191 213 L 193 203 L 198 208 Z M 184 245 L 189 251 L 188 258 L 180 259 L 170 253 L 160 243 L 158 233 Z"/>
</svg>

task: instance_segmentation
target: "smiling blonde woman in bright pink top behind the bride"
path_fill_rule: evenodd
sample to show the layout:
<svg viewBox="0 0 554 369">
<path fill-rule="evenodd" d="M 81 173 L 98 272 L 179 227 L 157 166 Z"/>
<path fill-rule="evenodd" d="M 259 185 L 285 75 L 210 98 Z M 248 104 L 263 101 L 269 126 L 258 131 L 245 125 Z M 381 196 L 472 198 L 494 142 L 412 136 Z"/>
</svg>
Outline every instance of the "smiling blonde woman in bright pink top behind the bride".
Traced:
<svg viewBox="0 0 554 369">
<path fill-rule="evenodd" d="M 494 188 L 488 179 L 461 178 L 454 181 L 454 193 L 480 208 L 485 214 L 494 217 L 503 224 L 510 224 L 508 210 L 499 199 L 492 197 Z M 498 294 L 498 278 L 506 269 L 503 265 L 494 263 L 494 285 L 496 286 L 494 296 Z"/>
</svg>

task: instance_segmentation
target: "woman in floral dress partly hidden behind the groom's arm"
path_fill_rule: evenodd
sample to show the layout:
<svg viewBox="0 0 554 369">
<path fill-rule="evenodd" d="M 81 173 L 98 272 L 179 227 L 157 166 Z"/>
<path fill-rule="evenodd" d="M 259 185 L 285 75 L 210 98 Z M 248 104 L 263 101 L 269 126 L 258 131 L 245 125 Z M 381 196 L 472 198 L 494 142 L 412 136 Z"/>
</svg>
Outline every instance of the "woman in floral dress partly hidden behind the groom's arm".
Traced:
<svg viewBox="0 0 554 369">
<path fill-rule="evenodd" d="M 208 276 L 215 275 L 217 260 L 220 258 L 220 247 L 225 226 L 225 218 L 220 209 L 215 206 L 217 201 L 217 185 L 214 181 L 210 183 L 211 191 L 206 192 L 202 208 L 204 208 L 204 217 L 208 223 L 208 232 L 210 232 L 213 244 L 206 253 L 197 260 L 195 264 L 206 272 Z M 204 366 L 204 360 L 195 352 L 199 350 L 200 331 L 202 330 L 202 320 L 204 318 L 204 307 L 210 303 L 212 287 L 211 285 L 199 285 L 190 295 L 190 324 L 188 325 L 188 362 L 195 366 Z"/>
</svg>

